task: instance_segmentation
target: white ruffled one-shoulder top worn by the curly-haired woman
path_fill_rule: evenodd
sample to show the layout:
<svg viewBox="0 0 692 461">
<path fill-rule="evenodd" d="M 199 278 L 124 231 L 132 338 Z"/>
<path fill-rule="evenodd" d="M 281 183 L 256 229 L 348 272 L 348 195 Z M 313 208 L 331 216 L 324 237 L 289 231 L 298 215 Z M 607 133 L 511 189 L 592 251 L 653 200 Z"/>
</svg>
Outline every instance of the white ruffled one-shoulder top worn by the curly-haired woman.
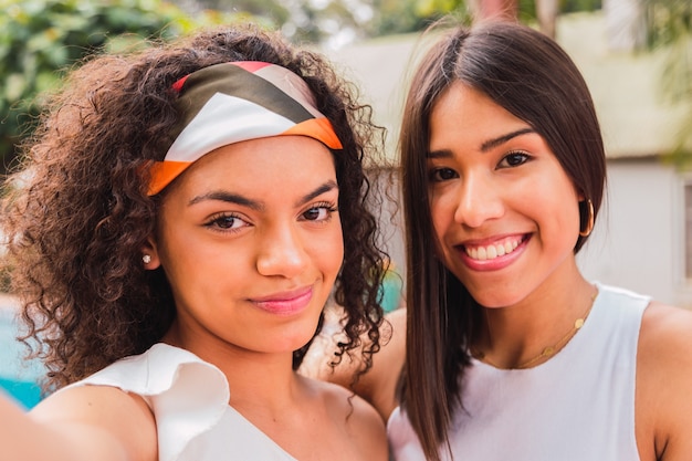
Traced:
<svg viewBox="0 0 692 461">
<path fill-rule="evenodd" d="M 156 418 L 160 461 L 296 461 L 229 406 L 226 376 L 188 350 L 155 344 L 69 387 L 141 396 Z"/>
</svg>

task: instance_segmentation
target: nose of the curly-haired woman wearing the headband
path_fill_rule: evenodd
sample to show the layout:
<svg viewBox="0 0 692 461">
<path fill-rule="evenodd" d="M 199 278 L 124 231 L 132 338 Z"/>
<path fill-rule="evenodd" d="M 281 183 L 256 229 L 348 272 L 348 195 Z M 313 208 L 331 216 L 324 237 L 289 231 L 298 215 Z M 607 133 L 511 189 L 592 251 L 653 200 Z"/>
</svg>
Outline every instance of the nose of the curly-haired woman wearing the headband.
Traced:
<svg viewBox="0 0 692 461">
<path fill-rule="evenodd" d="M 305 243 L 297 229 L 275 226 L 263 233 L 258 242 L 258 272 L 265 276 L 293 277 L 303 272 L 308 263 Z"/>
</svg>

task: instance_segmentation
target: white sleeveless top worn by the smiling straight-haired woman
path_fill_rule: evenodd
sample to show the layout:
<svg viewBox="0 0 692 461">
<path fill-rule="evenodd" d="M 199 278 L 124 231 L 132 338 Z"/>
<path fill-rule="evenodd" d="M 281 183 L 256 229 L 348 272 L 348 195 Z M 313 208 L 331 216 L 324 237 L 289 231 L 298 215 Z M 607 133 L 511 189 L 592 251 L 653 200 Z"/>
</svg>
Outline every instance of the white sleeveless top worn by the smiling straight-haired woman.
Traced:
<svg viewBox="0 0 692 461">
<path fill-rule="evenodd" d="M 497 369 L 472 360 L 449 440 L 455 461 L 638 461 L 635 380 L 650 298 L 597 284 L 586 323 L 548 362 Z M 424 461 L 406 413 L 387 433 L 397 461 Z M 450 460 L 447 450 L 440 451 Z"/>
</svg>

